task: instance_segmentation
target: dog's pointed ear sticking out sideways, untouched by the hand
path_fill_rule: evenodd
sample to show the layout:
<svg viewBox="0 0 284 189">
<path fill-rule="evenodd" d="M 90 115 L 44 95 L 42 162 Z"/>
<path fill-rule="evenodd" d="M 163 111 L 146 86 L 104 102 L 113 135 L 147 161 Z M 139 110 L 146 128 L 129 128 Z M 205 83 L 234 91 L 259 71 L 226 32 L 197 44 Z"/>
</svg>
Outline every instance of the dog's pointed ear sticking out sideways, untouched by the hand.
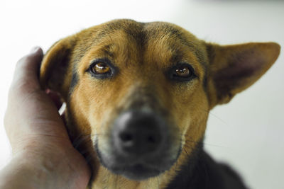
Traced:
<svg viewBox="0 0 284 189">
<path fill-rule="evenodd" d="M 228 103 L 236 93 L 251 86 L 272 66 L 279 53 L 280 45 L 274 42 L 207 44 L 210 108 Z"/>
</svg>

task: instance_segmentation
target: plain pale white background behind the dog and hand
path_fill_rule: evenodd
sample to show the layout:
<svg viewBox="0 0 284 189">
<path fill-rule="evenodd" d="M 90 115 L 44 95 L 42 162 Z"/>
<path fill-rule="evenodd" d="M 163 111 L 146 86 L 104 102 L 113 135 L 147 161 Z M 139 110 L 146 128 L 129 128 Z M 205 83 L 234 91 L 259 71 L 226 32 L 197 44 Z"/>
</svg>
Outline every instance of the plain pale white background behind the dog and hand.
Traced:
<svg viewBox="0 0 284 189">
<path fill-rule="evenodd" d="M 11 158 L 3 128 L 16 61 L 31 47 L 114 18 L 176 23 L 198 38 L 231 44 L 274 41 L 284 47 L 282 1 L 0 1 L 0 168 Z M 251 88 L 209 115 L 205 148 L 256 189 L 284 188 L 283 54 Z"/>
</svg>

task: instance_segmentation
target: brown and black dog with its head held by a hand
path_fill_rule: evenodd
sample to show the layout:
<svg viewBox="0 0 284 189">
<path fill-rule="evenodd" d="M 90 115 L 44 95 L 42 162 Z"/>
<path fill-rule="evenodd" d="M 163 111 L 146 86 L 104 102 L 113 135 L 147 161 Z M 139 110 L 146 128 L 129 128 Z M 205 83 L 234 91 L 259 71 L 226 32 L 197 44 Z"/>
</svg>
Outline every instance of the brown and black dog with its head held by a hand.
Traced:
<svg viewBox="0 0 284 189">
<path fill-rule="evenodd" d="M 90 189 L 242 189 L 202 147 L 209 110 L 256 82 L 279 53 L 275 42 L 217 45 L 171 23 L 122 19 L 55 42 L 40 84 L 66 103 Z"/>
</svg>

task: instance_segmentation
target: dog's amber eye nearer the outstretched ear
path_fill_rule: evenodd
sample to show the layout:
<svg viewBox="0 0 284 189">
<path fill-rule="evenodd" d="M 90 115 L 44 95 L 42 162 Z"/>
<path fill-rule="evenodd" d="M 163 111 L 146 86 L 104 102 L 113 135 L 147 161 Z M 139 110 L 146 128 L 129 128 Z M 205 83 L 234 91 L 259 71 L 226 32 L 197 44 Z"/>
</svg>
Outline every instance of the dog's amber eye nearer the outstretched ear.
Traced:
<svg viewBox="0 0 284 189">
<path fill-rule="evenodd" d="M 178 64 L 170 69 L 169 77 L 175 81 L 190 81 L 195 77 L 195 72 L 190 64 Z"/>
</svg>

